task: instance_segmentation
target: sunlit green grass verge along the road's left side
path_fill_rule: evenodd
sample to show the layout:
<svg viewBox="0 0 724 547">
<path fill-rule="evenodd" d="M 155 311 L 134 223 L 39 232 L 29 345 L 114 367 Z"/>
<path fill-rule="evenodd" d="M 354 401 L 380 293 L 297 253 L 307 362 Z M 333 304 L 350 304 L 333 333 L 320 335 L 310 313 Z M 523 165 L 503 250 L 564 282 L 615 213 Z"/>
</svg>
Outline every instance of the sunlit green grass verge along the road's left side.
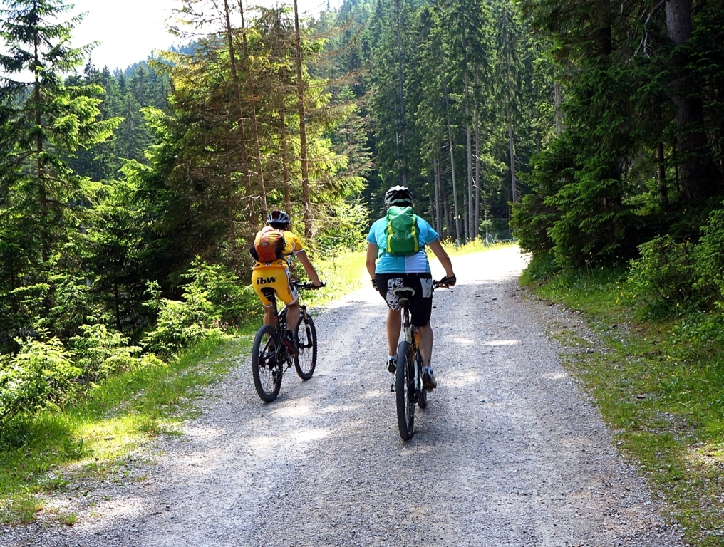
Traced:
<svg viewBox="0 0 724 547">
<path fill-rule="evenodd" d="M 32 522 L 46 494 L 75 488 L 75 478 L 108 476 L 139 445 L 178 434 L 203 389 L 250 346 L 251 336 L 208 339 L 170 365 L 109 378 L 76 405 L 16 420 L 0 436 L 0 522 Z M 59 516 L 66 525 L 76 518 Z"/>
</svg>

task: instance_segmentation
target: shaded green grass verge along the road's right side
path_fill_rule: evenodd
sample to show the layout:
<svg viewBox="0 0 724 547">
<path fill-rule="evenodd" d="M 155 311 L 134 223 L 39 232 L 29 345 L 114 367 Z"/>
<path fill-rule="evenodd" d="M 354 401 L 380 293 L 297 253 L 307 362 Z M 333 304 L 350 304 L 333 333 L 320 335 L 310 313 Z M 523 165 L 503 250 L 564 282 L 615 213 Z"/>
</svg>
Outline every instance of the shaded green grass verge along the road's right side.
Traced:
<svg viewBox="0 0 724 547">
<path fill-rule="evenodd" d="M 607 347 L 563 355 L 599 404 L 615 443 L 665 499 L 686 541 L 724 546 L 724 344 L 702 339 L 702 317 L 635 321 L 620 273 L 523 282 L 580 310 Z M 576 333 L 557 336 L 582 345 Z"/>
</svg>

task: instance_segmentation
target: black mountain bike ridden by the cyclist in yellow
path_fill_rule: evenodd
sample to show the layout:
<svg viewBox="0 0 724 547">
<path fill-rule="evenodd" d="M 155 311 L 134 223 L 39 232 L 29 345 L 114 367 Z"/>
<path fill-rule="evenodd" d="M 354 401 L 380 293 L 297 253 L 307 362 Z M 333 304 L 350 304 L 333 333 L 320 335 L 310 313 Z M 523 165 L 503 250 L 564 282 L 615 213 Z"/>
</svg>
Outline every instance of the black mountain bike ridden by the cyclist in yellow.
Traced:
<svg viewBox="0 0 724 547">
<path fill-rule="evenodd" d="M 317 289 L 311 283 L 295 282 L 298 289 Z M 321 287 L 324 287 L 324 283 Z M 256 333 L 251 350 L 251 374 L 259 399 L 272 402 L 279 395 L 282 376 L 294 363 L 299 377 L 306 381 L 312 377 L 316 367 L 316 329 L 305 305 L 300 305 L 299 323 L 295 328 L 295 339 L 299 353 L 292 356 L 282 344 L 287 331 L 287 306 L 277 312 L 277 294 L 274 289 L 262 289 L 274 308 L 274 325 L 264 325 Z"/>
</svg>

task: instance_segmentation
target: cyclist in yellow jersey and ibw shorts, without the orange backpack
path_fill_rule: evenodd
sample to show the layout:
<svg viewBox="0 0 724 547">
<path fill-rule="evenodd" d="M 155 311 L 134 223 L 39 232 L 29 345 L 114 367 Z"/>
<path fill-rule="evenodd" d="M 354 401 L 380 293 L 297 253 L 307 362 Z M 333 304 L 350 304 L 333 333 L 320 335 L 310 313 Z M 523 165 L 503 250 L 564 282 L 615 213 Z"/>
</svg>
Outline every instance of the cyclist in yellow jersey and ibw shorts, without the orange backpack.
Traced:
<svg viewBox="0 0 724 547">
<path fill-rule="evenodd" d="M 294 339 L 293 333 L 299 322 L 300 308 L 299 292 L 297 287 L 292 284 L 289 276 L 289 266 L 292 261 L 292 256 L 297 257 L 300 263 L 302 263 L 304 270 L 307 272 L 315 288 L 319 288 L 322 285 L 314 266 L 312 266 L 302 246 L 301 240 L 295 233 L 290 232 L 289 228 L 291 223 L 292 219 L 290 219 L 290 216 L 284 211 L 271 211 L 271 213 L 266 216 L 266 224 L 284 232 L 286 245 L 282 252 L 282 258 L 274 260 L 273 262 L 263 263 L 258 261 L 258 255 L 253 245 L 249 251 L 253 258 L 257 260 L 251 272 L 251 285 L 259 300 L 261 300 L 261 303 L 264 304 L 264 324 L 272 325 L 274 323 L 274 309 L 271 307 L 269 299 L 261 292 L 261 289 L 271 288 L 277 293 L 277 298 L 287 305 L 287 332 L 282 342 L 287 349 L 292 352 L 292 355 L 297 355 L 297 342 Z"/>
</svg>

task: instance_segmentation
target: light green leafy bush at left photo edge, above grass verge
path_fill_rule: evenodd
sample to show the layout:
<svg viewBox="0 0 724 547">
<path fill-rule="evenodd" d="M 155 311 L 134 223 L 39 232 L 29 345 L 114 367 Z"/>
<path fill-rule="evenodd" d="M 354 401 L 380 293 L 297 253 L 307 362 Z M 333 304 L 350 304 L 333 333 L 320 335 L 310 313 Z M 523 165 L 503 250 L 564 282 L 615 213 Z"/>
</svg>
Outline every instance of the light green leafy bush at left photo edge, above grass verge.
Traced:
<svg viewBox="0 0 724 547">
<path fill-rule="evenodd" d="M 77 390 L 80 369 L 59 339 L 18 340 L 17 355 L 0 356 L 0 424 L 20 413 L 60 406 Z"/>
</svg>

